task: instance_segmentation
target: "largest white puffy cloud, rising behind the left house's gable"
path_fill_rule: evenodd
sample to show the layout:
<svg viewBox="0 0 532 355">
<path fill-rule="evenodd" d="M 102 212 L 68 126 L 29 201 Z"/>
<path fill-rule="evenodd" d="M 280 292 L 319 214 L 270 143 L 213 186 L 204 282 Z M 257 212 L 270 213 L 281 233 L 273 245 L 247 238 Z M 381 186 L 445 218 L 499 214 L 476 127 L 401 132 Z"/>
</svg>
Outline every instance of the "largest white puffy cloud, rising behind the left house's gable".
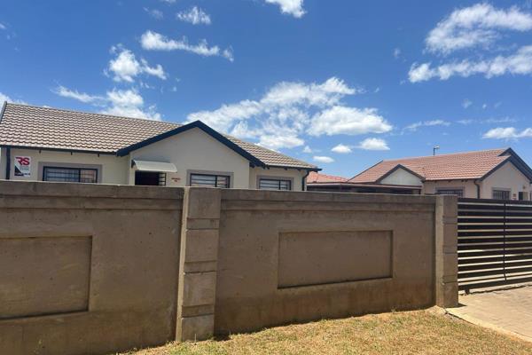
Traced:
<svg viewBox="0 0 532 355">
<path fill-rule="evenodd" d="M 331 77 L 323 83 L 281 82 L 261 99 L 224 104 L 212 111 L 187 116 L 215 130 L 239 138 L 254 138 L 272 149 L 304 146 L 304 135 L 312 136 L 382 133 L 392 126 L 375 108 L 344 106 L 341 99 L 361 90 Z"/>
</svg>

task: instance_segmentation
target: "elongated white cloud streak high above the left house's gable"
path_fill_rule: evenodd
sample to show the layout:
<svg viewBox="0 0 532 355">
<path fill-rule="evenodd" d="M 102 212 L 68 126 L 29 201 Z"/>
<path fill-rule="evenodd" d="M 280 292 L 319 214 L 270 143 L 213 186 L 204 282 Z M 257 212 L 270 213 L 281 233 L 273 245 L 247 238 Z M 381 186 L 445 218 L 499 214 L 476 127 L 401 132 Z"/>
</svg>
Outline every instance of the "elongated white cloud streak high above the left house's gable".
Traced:
<svg viewBox="0 0 532 355">
<path fill-rule="evenodd" d="M 189 51 L 204 57 L 219 56 L 230 61 L 234 60 L 231 48 L 221 50 L 217 45 L 209 47 L 206 40 L 190 44 L 185 36 L 180 40 L 174 40 L 148 30 L 141 36 L 140 43 L 147 51 Z"/>
</svg>

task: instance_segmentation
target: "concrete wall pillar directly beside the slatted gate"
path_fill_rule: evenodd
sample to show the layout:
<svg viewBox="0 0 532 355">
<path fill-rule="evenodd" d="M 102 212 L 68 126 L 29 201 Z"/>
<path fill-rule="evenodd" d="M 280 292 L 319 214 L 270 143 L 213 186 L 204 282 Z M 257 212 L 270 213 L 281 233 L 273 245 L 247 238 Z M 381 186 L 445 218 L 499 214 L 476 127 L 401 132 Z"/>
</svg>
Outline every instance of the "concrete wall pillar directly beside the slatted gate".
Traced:
<svg viewBox="0 0 532 355">
<path fill-rule="evenodd" d="M 435 304 L 458 306 L 458 198 L 436 196 Z"/>
</svg>

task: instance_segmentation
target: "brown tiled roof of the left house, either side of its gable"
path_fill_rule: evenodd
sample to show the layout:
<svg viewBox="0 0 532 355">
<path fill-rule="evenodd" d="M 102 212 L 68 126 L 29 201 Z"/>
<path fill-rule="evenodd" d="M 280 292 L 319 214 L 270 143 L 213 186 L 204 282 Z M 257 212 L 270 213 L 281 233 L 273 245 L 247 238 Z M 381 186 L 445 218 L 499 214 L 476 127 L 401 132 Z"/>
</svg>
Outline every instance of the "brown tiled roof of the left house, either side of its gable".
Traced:
<svg viewBox="0 0 532 355">
<path fill-rule="evenodd" d="M 181 125 L 8 103 L 0 117 L 0 146 L 27 146 L 114 154 Z M 268 166 L 317 169 L 284 154 L 224 136 Z"/>
</svg>

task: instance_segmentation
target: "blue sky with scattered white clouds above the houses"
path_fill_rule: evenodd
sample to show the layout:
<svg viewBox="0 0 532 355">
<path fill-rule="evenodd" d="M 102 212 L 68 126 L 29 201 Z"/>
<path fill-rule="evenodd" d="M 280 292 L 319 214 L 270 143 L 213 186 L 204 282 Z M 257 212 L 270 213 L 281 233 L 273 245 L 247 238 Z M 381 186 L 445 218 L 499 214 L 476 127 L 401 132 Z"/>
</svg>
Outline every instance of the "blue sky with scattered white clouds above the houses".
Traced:
<svg viewBox="0 0 532 355">
<path fill-rule="evenodd" d="M 529 0 L 2 3 L 2 100 L 200 119 L 345 177 L 434 145 L 532 162 Z"/>
</svg>

